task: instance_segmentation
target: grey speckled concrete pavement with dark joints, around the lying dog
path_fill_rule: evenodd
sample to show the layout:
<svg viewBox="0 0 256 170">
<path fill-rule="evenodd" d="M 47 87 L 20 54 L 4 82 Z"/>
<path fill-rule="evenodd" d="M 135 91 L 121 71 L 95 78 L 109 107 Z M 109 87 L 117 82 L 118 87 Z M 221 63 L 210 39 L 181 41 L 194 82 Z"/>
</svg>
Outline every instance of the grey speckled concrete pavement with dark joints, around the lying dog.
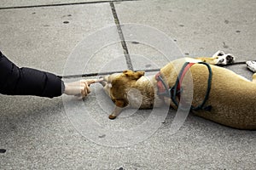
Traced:
<svg viewBox="0 0 256 170">
<path fill-rule="evenodd" d="M 2 0 L 0 48 L 17 65 L 57 75 L 152 71 L 170 59 L 218 49 L 237 60 L 255 59 L 255 8 L 249 0 Z M 245 65 L 229 68 L 251 77 Z M 172 110 L 165 120 L 153 116 L 160 122 L 149 127 L 142 122 L 151 111 L 126 111 L 111 122 L 113 105 L 99 85 L 84 101 L 1 95 L 0 108 L 0 149 L 6 150 L 0 169 L 256 167 L 254 131 L 189 115 L 173 134 Z"/>
</svg>

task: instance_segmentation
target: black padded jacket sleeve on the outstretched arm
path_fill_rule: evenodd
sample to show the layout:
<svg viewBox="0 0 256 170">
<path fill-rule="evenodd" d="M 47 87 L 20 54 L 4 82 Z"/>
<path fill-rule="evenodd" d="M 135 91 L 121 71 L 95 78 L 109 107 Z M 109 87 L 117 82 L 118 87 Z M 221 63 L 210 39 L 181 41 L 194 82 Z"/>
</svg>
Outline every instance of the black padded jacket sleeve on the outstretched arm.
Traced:
<svg viewBox="0 0 256 170">
<path fill-rule="evenodd" d="M 0 52 L 0 93 L 53 98 L 63 93 L 60 77 L 31 68 L 19 68 Z"/>
</svg>

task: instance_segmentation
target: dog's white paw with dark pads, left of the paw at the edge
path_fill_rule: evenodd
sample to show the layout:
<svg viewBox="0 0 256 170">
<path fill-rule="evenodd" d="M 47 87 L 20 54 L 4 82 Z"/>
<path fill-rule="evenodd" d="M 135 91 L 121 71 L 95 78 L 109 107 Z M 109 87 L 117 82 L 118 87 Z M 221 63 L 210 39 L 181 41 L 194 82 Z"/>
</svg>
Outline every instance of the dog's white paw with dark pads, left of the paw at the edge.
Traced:
<svg viewBox="0 0 256 170">
<path fill-rule="evenodd" d="M 228 65 L 230 63 L 234 63 L 236 59 L 233 54 L 224 54 L 223 51 L 219 51 L 219 50 L 218 52 L 212 55 L 212 58 L 216 59 L 217 65 Z"/>
</svg>

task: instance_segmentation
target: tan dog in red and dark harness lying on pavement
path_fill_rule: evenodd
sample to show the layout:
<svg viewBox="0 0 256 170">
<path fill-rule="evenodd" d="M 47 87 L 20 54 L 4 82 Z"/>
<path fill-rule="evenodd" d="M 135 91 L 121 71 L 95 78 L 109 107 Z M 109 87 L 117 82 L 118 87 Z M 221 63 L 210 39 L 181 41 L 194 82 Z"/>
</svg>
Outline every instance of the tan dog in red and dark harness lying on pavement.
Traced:
<svg viewBox="0 0 256 170">
<path fill-rule="evenodd" d="M 179 103 L 179 95 L 186 96 L 186 92 L 191 91 L 191 87 L 186 87 L 186 84 L 193 81 L 191 105 L 195 108 L 205 102 L 196 111 L 192 109 L 195 115 L 229 127 L 256 129 L 256 74 L 253 74 L 251 82 L 233 71 L 216 66 L 234 61 L 231 54 L 218 51 L 212 58 L 177 59 L 164 66 L 160 69 L 160 77 L 168 88 L 175 86 L 179 72 L 188 61 L 196 64 L 183 74 L 183 82 L 179 82 L 183 86 L 182 92 L 178 94 L 176 91 L 174 100 Z M 210 64 L 210 68 L 198 64 L 201 61 Z M 208 82 L 211 82 L 210 85 Z M 143 71 L 124 71 L 104 77 L 102 85 L 116 105 L 109 118 L 119 116 L 127 107 L 150 109 L 167 104 L 177 109 L 170 96 L 159 95 L 159 84 L 160 81 L 155 77 L 144 77 Z"/>
</svg>

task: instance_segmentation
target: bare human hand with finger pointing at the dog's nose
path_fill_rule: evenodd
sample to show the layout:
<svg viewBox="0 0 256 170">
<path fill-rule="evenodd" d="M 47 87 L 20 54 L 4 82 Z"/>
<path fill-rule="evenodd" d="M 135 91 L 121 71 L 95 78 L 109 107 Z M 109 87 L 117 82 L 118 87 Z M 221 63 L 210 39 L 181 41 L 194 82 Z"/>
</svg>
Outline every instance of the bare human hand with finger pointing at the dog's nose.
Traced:
<svg viewBox="0 0 256 170">
<path fill-rule="evenodd" d="M 84 98 L 90 94 L 90 84 L 100 81 L 101 79 L 83 79 L 77 82 L 64 82 L 64 94 L 75 95 Z"/>
</svg>

